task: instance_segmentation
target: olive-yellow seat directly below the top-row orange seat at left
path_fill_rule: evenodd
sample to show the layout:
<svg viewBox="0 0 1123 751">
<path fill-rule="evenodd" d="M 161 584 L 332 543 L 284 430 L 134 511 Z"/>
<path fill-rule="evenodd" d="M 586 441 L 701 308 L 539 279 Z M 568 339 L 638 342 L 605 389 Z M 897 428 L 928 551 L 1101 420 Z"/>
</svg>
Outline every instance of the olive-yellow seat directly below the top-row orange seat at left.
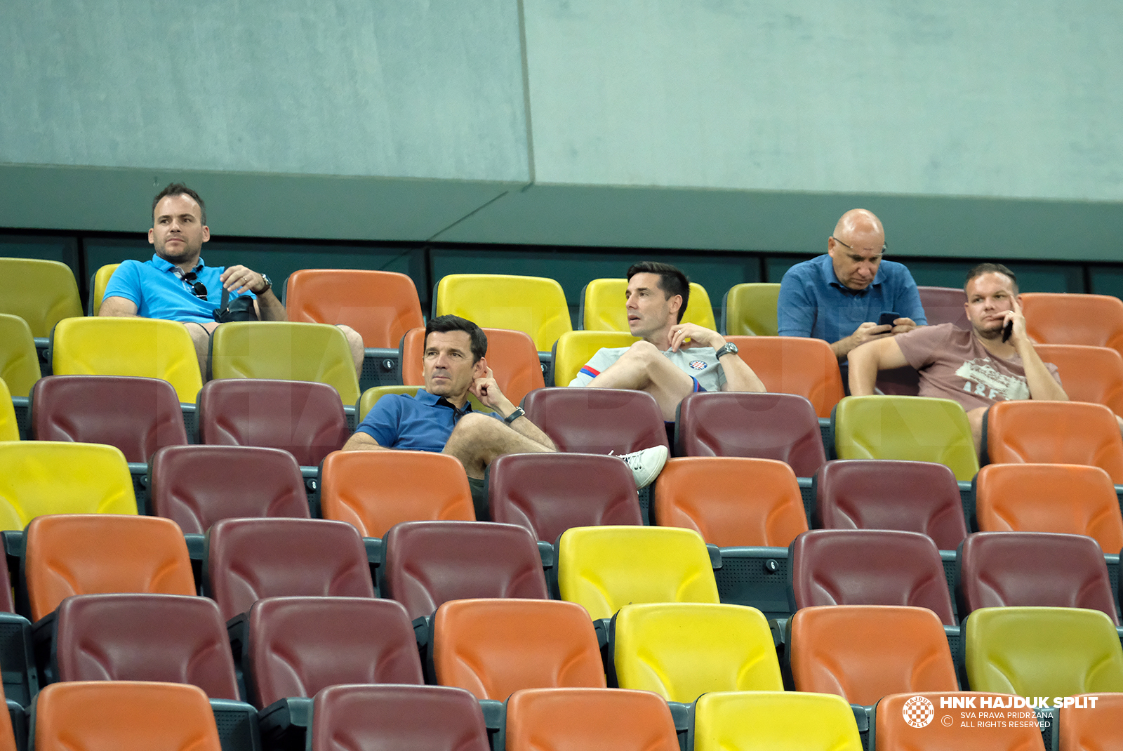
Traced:
<svg viewBox="0 0 1123 751">
<path fill-rule="evenodd" d="M 241 321 L 211 337 L 212 378 L 313 381 L 334 386 L 344 404 L 359 397 L 344 332 L 327 323 Z"/>
</svg>

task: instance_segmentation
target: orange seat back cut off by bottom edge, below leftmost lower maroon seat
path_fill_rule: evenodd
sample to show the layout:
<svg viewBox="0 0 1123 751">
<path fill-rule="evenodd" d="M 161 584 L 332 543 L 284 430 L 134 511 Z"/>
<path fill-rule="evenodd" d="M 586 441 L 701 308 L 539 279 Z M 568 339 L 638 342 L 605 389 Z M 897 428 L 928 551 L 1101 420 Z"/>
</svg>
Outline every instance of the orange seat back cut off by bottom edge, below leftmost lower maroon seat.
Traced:
<svg viewBox="0 0 1123 751">
<path fill-rule="evenodd" d="M 197 686 L 135 680 L 52 684 L 33 720 L 36 751 L 221 751 Z"/>
</svg>

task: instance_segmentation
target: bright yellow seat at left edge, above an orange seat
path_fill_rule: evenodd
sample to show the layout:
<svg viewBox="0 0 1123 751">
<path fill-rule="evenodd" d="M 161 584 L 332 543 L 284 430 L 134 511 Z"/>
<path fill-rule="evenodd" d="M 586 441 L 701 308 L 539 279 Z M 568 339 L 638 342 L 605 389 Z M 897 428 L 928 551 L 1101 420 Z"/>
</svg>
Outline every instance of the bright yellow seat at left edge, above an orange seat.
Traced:
<svg viewBox="0 0 1123 751">
<path fill-rule="evenodd" d="M 0 443 L 0 529 L 42 514 L 136 514 L 129 465 L 103 443 Z"/>
</svg>

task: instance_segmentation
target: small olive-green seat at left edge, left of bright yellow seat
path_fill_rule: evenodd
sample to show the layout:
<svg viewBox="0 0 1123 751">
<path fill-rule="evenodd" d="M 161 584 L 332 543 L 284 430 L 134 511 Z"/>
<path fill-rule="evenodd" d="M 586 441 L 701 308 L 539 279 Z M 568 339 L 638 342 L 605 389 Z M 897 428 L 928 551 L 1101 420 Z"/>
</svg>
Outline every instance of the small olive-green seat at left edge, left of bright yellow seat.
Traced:
<svg viewBox="0 0 1123 751">
<path fill-rule="evenodd" d="M 82 314 L 74 272 L 57 260 L 0 258 L 0 313 L 27 321 L 33 337 L 49 337 L 55 323 Z"/>
</svg>

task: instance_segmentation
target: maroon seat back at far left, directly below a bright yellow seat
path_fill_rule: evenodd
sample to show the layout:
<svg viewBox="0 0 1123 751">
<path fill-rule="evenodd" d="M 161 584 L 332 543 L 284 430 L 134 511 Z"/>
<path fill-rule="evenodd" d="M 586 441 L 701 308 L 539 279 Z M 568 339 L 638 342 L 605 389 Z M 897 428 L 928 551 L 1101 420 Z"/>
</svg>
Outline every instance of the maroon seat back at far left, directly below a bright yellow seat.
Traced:
<svg viewBox="0 0 1123 751">
<path fill-rule="evenodd" d="M 129 461 L 165 446 L 184 446 L 180 399 L 172 384 L 128 376 L 47 376 L 31 390 L 31 434 L 38 440 L 109 443 Z"/>
</svg>

